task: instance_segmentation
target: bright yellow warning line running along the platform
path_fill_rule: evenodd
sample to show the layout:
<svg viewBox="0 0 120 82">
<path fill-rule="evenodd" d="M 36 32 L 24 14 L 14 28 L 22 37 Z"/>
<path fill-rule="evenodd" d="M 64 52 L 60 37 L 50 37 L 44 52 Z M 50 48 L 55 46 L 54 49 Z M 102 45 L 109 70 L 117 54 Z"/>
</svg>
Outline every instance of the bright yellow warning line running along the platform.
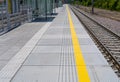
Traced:
<svg viewBox="0 0 120 82">
<path fill-rule="evenodd" d="M 71 14 L 67 5 L 67 13 L 68 13 L 68 19 L 70 24 L 70 30 L 71 30 L 71 36 L 72 36 L 72 43 L 73 43 L 73 49 L 74 49 L 74 56 L 76 61 L 76 69 L 78 74 L 78 82 L 90 82 L 90 77 L 88 75 L 87 67 L 82 55 L 82 51 L 79 45 L 79 41 L 74 29 L 74 25 L 72 22 Z"/>
</svg>

